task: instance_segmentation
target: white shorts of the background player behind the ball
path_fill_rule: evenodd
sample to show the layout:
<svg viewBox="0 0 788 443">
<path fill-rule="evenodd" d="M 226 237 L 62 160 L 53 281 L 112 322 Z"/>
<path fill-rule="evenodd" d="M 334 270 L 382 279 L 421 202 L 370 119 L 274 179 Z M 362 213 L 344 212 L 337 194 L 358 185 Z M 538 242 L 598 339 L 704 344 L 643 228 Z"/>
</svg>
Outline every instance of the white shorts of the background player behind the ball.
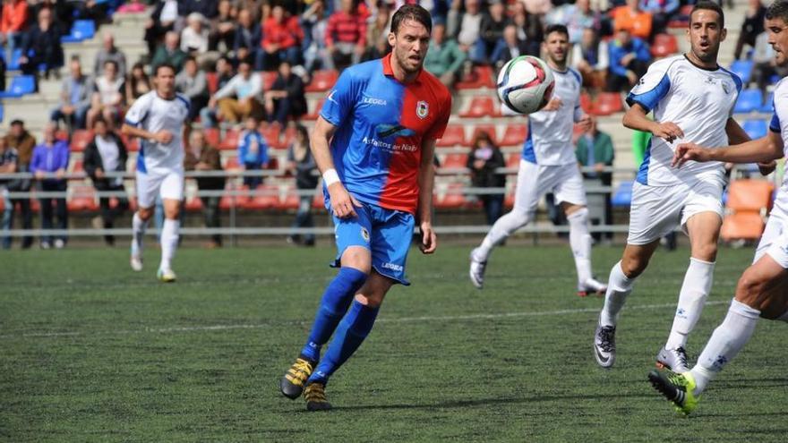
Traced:
<svg viewBox="0 0 788 443">
<path fill-rule="evenodd" d="M 586 189 L 577 164 L 541 166 L 520 159 L 514 208 L 532 214 L 547 192 L 555 194 L 556 203 L 586 206 Z"/>
</svg>

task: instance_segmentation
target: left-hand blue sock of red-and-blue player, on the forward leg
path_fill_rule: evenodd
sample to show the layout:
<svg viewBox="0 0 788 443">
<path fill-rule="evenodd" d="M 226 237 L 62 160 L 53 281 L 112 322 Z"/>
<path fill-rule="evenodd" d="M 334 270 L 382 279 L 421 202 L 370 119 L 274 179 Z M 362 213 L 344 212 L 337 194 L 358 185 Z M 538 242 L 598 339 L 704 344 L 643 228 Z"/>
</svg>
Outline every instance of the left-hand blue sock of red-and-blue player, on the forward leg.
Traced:
<svg viewBox="0 0 788 443">
<path fill-rule="evenodd" d="M 366 274 L 355 268 L 340 268 L 323 293 L 320 307 L 314 316 L 312 331 L 301 354 L 313 362 L 320 360 L 322 345 L 329 342 L 331 334 L 345 316 L 355 292 L 364 285 Z"/>
</svg>

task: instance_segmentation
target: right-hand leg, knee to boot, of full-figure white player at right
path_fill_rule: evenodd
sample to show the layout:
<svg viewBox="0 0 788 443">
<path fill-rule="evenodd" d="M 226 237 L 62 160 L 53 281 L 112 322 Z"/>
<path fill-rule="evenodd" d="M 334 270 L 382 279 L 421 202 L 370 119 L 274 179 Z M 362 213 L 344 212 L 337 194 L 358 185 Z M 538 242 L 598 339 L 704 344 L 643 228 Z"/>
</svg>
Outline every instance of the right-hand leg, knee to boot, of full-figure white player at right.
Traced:
<svg viewBox="0 0 788 443">
<path fill-rule="evenodd" d="M 687 338 L 698 323 L 711 292 L 717 240 L 722 225 L 722 218 L 715 211 L 698 212 L 687 220 L 685 226 L 690 234 L 690 266 L 681 285 L 671 334 L 656 357 L 658 367 L 666 367 L 679 373 L 690 369 L 685 351 Z"/>
</svg>

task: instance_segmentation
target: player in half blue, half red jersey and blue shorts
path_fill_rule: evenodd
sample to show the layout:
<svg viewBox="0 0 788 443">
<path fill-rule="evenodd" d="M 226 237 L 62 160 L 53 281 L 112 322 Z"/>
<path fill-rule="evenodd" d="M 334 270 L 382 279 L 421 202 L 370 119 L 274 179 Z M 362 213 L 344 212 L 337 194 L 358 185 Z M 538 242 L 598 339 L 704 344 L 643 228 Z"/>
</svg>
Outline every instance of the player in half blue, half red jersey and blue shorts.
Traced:
<svg viewBox="0 0 788 443">
<path fill-rule="evenodd" d="M 432 18 L 404 5 L 391 19 L 390 55 L 348 68 L 330 90 L 312 136 L 339 267 L 282 394 L 330 409 L 325 386 L 373 328 L 392 285 L 409 285 L 405 262 L 415 218 L 420 249 L 437 247 L 431 220 L 435 141 L 449 121 L 449 90 L 422 69 Z M 321 358 L 321 347 L 333 340 Z"/>
</svg>

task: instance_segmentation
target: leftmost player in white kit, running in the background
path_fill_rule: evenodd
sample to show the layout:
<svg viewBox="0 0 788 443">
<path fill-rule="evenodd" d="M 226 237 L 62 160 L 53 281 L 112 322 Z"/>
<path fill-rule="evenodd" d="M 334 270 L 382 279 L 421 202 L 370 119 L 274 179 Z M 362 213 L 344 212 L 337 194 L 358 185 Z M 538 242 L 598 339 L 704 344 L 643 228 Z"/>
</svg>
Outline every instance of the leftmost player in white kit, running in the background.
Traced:
<svg viewBox="0 0 788 443">
<path fill-rule="evenodd" d="M 137 157 L 137 212 L 132 227 L 131 265 L 142 270 L 142 238 L 153 215 L 156 197 L 164 205 L 161 229 L 161 264 L 157 277 L 173 282 L 171 262 L 178 244 L 178 213 L 184 200 L 184 140 L 189 115 L 189 99 L 175 90 L 176 70 L 170 64 L 156 68 L 154 89 L 134 102 L 125 115 L 121 131 L 140 139 Z"/>
</svg>

